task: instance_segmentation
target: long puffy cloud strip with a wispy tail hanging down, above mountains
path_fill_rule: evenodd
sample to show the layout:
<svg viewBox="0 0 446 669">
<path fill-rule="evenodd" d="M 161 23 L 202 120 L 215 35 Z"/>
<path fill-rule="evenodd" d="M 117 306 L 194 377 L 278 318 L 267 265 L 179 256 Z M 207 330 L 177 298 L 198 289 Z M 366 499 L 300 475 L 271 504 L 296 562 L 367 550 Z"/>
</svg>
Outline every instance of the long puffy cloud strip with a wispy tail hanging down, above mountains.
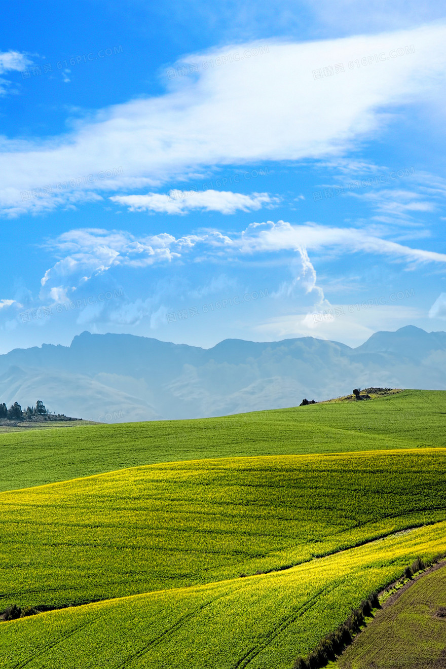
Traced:
<svg viewBox="0 0 446 669">
<path fill-rule="evenodd" d="M 265 253 L 292 252 L 298 258 L 295 277 L 291 284 L 284 284 L 280 291 L 292 292 L 298 284 L 306 292 L 316 291 L 318 303 L 324 294 L 316 286 L 316 272 L 309 251 L 324 249 L 339 253 L 378 254 L 391 260 L 419 264 L 425 262 L 445 263 L 446 254 L 410 248 L 397 242 L 357 228 L 340 228 L 306 223 L 292 225 L 285 221 L 251 223 L 241 233 L 223 235 L 217 230 L 175 237 L 169 233 L 136 237 L 128 231 L 106 229 L 78 229 L 63 233 L 47 242 L 60 256 L 60 260 L 45 272 L 41 280 L 41 298 L 56 296 L 53 288 L 76 290 L 92 276 L 100 276 L 113 267 L 128 266 L 144 268 L 155 264 L 169 264 L 187 258 L 219 262 L 242 256 L 258 256 Z M 62 294 L 62 293 L 61 293 Z M 64 293 L 64 297 L 67 295 Z"/>
</svg>

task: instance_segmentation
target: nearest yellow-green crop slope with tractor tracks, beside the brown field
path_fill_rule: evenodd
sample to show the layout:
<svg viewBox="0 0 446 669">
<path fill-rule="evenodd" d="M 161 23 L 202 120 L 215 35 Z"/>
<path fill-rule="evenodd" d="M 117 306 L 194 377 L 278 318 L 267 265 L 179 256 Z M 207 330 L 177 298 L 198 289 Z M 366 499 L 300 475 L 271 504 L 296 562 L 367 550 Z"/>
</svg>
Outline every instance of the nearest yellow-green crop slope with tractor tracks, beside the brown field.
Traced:
<svg viewBox="0 0 446 669">
<path fill-rule="evenodd" d="M 370 591 L 444 549 L 445 523 L 288 571 L 1 624 L 2 669 L 290 669 Z"/>
</svg>

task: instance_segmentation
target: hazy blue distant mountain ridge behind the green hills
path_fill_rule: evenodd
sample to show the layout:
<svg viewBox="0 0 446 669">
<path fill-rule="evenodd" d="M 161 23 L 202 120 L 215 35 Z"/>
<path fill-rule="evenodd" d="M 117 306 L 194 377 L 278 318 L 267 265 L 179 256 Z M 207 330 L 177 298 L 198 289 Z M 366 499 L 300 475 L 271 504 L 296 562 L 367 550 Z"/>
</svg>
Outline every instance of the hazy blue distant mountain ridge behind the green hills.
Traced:
<svg viewBox="0 0 446 669">
<path fill-rule="evenodd" d="M 0 403 L 44 397 L 58 413 L 98 421 L 206 417 L 299 405 L 354 387 L 446 389 L 446 332 L 406 326 L 352 349 L 301 337 L 225 339 L 211 349 L 82 334 L 0 355 Z"/>
</svg>

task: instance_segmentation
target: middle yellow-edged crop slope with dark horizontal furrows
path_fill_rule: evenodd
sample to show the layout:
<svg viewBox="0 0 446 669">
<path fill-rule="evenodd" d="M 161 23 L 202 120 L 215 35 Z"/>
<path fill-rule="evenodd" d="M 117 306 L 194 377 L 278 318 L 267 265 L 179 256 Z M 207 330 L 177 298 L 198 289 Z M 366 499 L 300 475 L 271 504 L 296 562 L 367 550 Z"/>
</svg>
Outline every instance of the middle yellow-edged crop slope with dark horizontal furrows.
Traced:
<svg viewBox="0 0 446 669">
<path fill-rule="evenodd" d="M 446 519 L 446 449 L 222 458 L 0 494 L 1 607 L 279 569 Z"/>
</svg>

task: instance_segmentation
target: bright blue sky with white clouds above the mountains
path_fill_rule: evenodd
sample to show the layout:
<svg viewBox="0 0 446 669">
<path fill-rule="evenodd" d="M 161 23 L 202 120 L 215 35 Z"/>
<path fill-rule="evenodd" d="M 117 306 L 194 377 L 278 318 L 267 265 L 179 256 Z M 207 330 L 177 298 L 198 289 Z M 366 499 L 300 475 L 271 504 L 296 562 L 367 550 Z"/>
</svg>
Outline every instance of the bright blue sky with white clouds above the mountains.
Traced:
<svg viewBox="0 0 446 669">
<path fill-rule="evenodd" d="M 0 10 L 0 353 L 445 329 L 443 3 Z"/>
</svg>

